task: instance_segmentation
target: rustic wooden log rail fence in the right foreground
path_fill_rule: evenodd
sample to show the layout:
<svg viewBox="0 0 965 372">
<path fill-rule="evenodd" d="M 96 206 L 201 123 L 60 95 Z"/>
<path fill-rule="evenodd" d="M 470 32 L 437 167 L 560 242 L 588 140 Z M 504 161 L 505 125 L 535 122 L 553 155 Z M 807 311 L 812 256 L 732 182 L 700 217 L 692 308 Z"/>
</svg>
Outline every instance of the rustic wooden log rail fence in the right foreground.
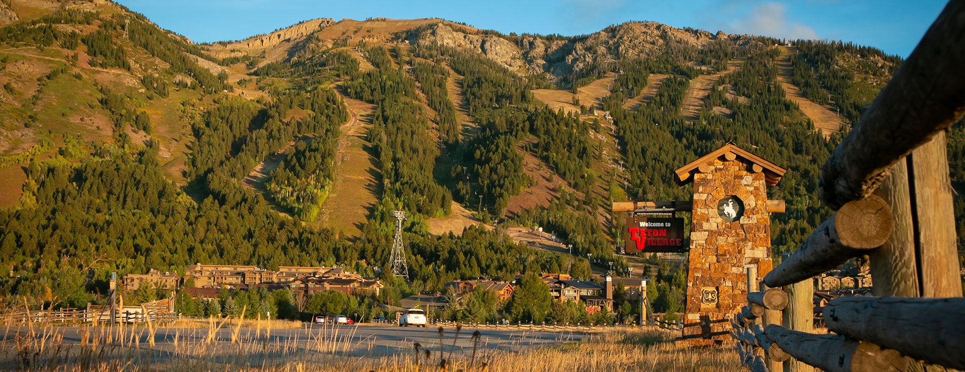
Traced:
<svg viewBox="0 0 965 372">
<path fill-rule="evenodd" d="M 965 114 L 965 0 L 951 0 L 821 169 L 837 212 L 759 281 L 731 321 L 752 371 L 965 370 L 945 131 Z M 870 256 L 876 297 L 838 298 L 813 333 L 813 275 Z M 753 269 L 753 270 L 752 270 Z"/>
</svg>

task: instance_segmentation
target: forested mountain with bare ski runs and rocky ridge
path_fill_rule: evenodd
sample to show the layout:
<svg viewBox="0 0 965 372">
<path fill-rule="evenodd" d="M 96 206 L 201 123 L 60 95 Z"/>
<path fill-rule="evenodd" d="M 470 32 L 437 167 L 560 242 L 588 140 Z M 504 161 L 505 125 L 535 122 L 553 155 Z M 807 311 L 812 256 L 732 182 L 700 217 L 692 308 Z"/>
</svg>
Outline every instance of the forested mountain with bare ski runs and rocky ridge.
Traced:
<svg viewBox="0 0 965 372">
<path fill-rule="evenodd" d="M 394 210 L 401 292 L 641 268 L 614 253 L 609 202 L 689 198 L 672 170 L 729 141 L 789 169 L 770 195 L 786 252 L 830 214 L 818 166 L 901 63 L 652 22 L 563 37 L 320 18 L 199 44 L 109 2 L 4 0 L 0 25 L 0 267 L 37 279 L 0 290 L 72 304 L 111 271 L 372 272 Z M 554 242 L 517 244 L 534 226 Z M 48 280 L 64 273 L 89 280 Z"/>
</svg>

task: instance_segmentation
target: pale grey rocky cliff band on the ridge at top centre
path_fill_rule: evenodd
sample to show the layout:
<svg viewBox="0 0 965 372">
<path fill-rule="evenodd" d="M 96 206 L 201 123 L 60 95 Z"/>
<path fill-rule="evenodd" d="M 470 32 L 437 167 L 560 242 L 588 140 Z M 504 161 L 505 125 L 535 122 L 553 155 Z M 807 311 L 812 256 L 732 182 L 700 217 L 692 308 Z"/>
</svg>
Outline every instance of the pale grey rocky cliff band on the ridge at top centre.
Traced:
<svg viewBox="0 0 965 372">
<path fill-rule="evenodd" d="M 522 53 L 516 44 L 495 35 L 474 35 L 455 31 L 445 23 L 435 24 L 423 31 L 417 43 L 438 43 L 460 49 L 474 49 L 514 72 L 524 67 Z"/>
</svg>

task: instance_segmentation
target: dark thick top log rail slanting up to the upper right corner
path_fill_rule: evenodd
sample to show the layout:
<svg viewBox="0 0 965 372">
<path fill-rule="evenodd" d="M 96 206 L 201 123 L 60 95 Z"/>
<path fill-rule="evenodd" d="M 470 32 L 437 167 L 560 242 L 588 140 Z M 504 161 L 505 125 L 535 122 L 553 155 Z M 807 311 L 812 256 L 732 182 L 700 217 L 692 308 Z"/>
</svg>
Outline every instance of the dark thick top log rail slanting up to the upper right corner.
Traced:
<svg viewBox="0 0 965 372">
<path fill-rule="evenodd" d="M 951 0 L 908 59 L 821 168 L 831 209 L 877 188 L 900 158 L 965 114 L 965 0 Z"/>
</svg>

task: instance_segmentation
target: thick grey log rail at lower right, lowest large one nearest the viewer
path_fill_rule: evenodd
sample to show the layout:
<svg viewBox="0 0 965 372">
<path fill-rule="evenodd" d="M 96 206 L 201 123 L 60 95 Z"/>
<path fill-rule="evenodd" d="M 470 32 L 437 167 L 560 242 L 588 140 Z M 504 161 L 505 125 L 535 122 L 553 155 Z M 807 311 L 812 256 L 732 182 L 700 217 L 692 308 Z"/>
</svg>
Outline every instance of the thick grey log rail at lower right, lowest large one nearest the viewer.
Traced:
<svg viewBox="0 0 965 372">
<path fill-rule="evenodd" d="M 965 298 L 838 298 L 824 306 L 824 323 L 911 358 L 965 370 Z"/>
</svg>

